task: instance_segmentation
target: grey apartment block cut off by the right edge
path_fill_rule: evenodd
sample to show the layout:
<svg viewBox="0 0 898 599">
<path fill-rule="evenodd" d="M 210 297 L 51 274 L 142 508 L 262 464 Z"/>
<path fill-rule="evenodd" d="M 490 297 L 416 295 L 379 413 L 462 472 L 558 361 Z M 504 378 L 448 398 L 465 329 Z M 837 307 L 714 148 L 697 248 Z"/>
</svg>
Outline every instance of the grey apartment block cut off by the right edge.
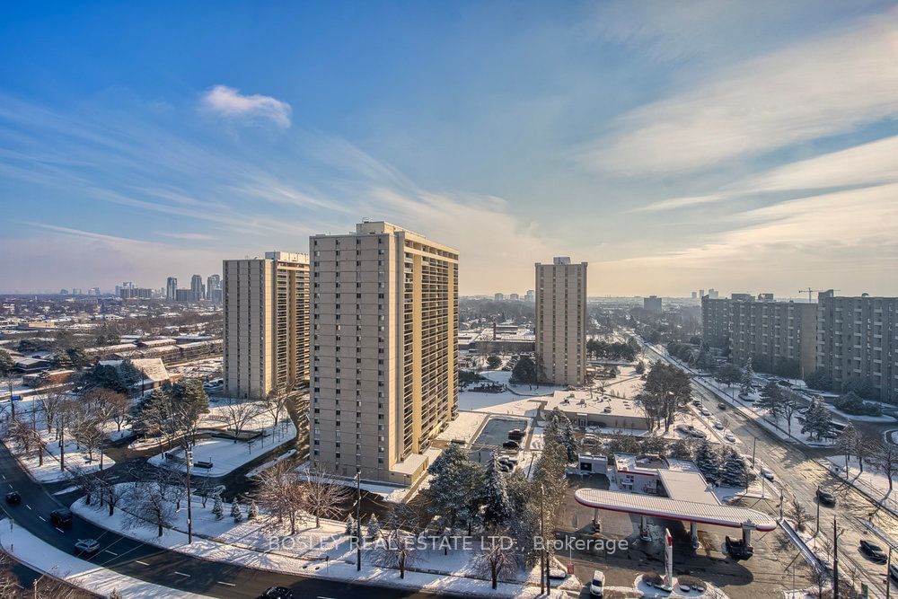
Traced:
<svg viewBox="0 0 898 599">
<path fill-rule="evenodd" d="M 817 368 L 833 390 L 867 386 L 898 403 L 898 297 L 818 295 Z"/>
</svg>

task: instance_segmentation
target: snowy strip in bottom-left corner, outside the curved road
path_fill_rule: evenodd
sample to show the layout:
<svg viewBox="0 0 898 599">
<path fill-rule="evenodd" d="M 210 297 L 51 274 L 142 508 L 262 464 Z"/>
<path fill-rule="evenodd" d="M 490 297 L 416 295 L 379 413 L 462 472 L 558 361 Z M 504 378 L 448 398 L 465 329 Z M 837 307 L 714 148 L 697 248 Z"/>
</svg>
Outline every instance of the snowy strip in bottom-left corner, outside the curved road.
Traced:
<svg viewBox="0 0 898 599">
<path fill-rule="evenodd" d="M 90 561 L 77 559 L 74 555 L 60 551 L 43 542 L 17 524 L 0 526 L 0 546 L 3 550 L 38 572 L 61 578 L 67 583 L 83 588 L 92 594 L 109 596 L 118 589 L 128 598 L 155 599 L 203 599 L 206 595 L 196 595 L 178 591 L 168 586 L 154 585 L 138 578 L 119 574 L 115 570 L 101 568 Z M 49 566 L 52 565 L 52 566 Z"/>
</svg>

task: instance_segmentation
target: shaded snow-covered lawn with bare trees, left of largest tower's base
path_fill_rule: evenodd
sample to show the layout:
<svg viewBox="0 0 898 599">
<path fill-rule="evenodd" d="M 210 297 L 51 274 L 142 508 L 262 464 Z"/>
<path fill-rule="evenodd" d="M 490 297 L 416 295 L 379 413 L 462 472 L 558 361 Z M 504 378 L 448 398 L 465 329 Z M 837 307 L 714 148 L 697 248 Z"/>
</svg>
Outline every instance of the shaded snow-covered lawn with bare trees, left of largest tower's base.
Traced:
<svg viewBox="0 0 898 599">
<path fill-rule="evenodd" d="M 293 423 L 285 423 L 272 432 L 272 428 L 266 428 L 268 436 L 257 437 L 254 441 L 237 441 L 218 437 L 200 439 L 193 446 L 193 468 L 191 473 L 195 476 L 217 477 L 224 476 L 240 468 L 243 464 L 251 462 L 261 454 L 269 452 L 275 445 L 281 445 L 295 438 L 296 428 Z M 283 429 L 282 429 L 283 428 Z M 174 454 L 176 460 L 166 460 L 163 455 Z M 186 471 L 187 464 L 183 462 L 183 453 L 179 449 L 169 450 L 162 454 L 156 454 L 148 462 L 156 466 L 165 466 L 173 470 Z M 211 468 L 198 467 L 199 462 L 212 462 Z"/>
</svg>

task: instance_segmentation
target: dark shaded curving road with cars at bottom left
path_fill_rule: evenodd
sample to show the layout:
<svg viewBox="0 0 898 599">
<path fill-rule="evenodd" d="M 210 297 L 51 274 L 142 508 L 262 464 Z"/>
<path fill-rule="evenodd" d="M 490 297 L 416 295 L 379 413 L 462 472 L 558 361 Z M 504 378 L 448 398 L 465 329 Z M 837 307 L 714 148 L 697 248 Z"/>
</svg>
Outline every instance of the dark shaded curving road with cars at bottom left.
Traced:
<svg viewBox="0 0 898 599">
<path fill-rule="evenodd" d="M 65 482 L 55 485 L 59 489 L 66 486 Z M 0 445 L 0 489 L 3 490 L 3 495 L 11 490 L 16 490 L 22 495 L 22 503 L 17 506 L 3 502 L 4 512 L 13 518 L 16 524 L 42 541 L 62 551 L 74 551 L 73 546 L 77 539 L 96 539 L 101 543 L 101 550 L 86 558 L 92 563 L 129 577 L 181 591 L 215 597 L 257 597 L 269 586 L 288 586 L 294 590 L 295 596 L 312 599 L 359 596 L 377 599 L 452 596 L 313 577 L 294 577 L 198 559 L 112 533 L 78 516 L 75 516 L 70 528 L 57 529 L 49 524 L 49 513 L 58 507 L 67 507 L 79 494 L 72 492 L 59 496 L 50 495 L 48 489 L 29 478 L 4 445 Z M 47 566 L 50 567 L 52 564 Z"/>
</svg>

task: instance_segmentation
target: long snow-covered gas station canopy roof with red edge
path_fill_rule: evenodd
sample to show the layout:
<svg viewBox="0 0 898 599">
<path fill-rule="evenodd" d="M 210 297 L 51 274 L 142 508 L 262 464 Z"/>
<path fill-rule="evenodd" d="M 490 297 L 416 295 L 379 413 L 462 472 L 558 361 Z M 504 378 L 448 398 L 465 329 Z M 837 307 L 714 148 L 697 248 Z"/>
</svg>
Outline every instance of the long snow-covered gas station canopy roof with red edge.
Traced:
<svg viewBox="0 0 898 599">
<path fill-rule="evenodd" d="M 579 489 L 574 493 L 577 503 L 585 507 L 607 509 L 612 512 L 647 515 L 699 524 L 713 524 L 742 528 L 751 522 L 759 531 L 772 531 L 777 521 L 770 515 L 747 507 L 720 506 L 697 501 L 662 498 L 604 489 Z"/>
</svg>

